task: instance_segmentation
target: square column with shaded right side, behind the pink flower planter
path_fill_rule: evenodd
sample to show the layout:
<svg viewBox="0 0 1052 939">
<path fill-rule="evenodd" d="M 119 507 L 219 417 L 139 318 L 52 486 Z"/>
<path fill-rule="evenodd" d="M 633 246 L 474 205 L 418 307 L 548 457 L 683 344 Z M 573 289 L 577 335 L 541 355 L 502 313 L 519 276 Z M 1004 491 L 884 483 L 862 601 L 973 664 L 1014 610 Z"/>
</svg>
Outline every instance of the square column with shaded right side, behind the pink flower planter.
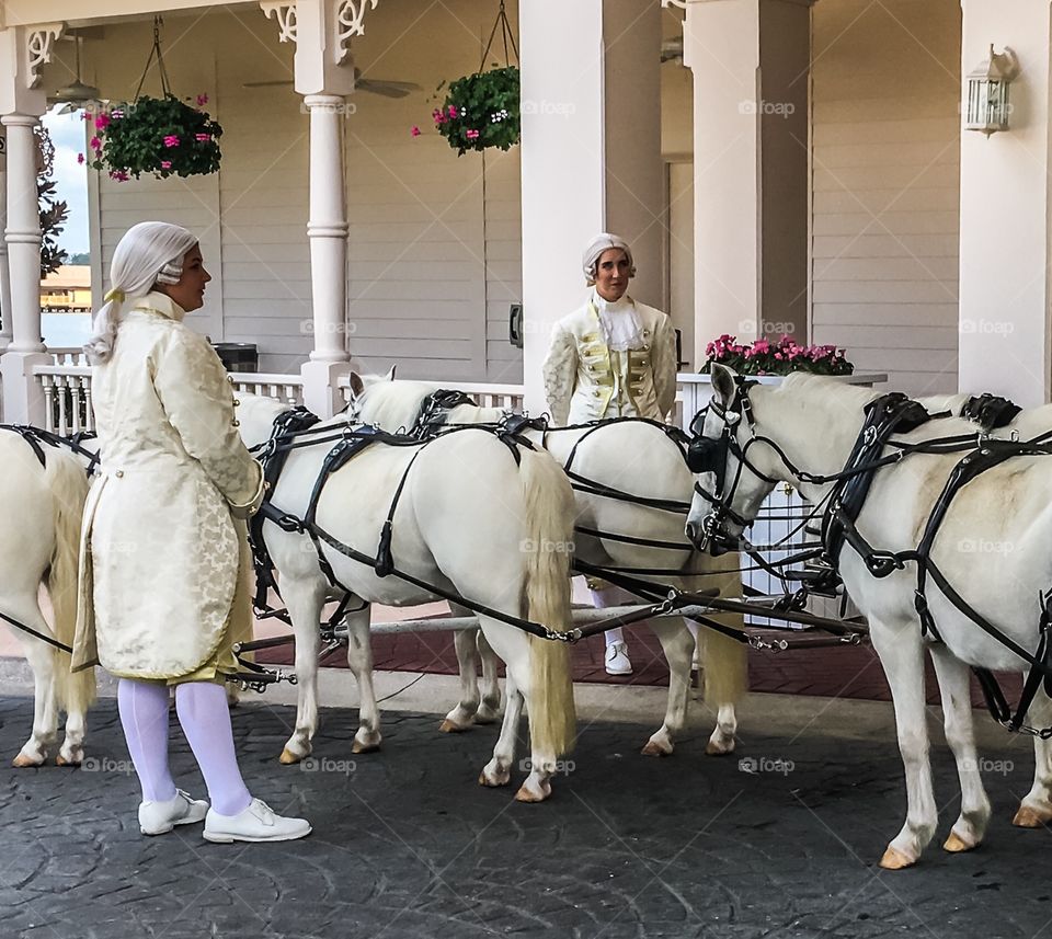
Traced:
<svg viewBox="0 0 1052 939">
<path fill-rule="evenodd" d="M 684 0 L 694 76 L 695 351 L 807 332 L 810 0 Z"/>
</svg>

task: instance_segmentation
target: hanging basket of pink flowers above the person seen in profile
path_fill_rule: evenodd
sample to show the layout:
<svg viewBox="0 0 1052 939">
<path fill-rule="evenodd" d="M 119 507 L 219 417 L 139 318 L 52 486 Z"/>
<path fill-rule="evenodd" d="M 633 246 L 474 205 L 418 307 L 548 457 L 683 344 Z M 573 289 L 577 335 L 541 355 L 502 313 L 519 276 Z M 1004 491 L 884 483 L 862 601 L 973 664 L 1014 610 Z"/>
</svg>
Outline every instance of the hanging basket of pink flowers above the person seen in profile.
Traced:
<svg viewBox="0 0 1052 939">
<path fill-rule="evenodd" d="M 208 99 L 198 95 L 198 105 Z M 90 117 L 91 115 L 85 115 Z M 94 116 L 91 138 L 95 170 L 108 170 L 121 182 L 140 173 L 168 176 L 207 175 L 219 169 L 222 128 L 208 113 L 173 94 L 144 95 Z"/>
</svg>

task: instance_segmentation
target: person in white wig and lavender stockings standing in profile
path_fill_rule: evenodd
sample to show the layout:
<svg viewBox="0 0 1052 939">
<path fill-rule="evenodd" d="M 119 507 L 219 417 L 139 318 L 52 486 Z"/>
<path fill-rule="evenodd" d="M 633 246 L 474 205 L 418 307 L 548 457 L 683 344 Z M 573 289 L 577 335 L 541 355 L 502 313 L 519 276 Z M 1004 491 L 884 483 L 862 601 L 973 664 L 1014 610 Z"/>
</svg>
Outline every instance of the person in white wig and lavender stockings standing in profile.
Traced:
<svg viewBox="0 0 1052 939">
<path fill-rule="evenodd" d="M 103 469 L 84 506 L 73 668 L 98 662 L 121 679 L 142 834 L 204 820 L 209 841 L 301 838 L 305 820 L 245 788 L 222 684 L 237 668 L 233 642 L 251 631 L 244 519 L 264 485 L 222 364 L 183 324 L 211 278 L 197 239 L 161 221 L 121 239 L 110 276 L 84 346 Z M 171 686 L 210 806 L 169 770 Z"/>
</svg>

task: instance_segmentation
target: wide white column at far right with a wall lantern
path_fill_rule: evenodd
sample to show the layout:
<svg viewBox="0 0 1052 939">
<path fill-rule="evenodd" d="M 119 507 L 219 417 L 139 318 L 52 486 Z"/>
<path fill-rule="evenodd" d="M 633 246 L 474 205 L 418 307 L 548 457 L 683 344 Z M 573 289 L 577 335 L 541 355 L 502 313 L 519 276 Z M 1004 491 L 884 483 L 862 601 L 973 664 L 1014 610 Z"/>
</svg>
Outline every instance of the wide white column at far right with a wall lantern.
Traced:
<svg viewBox="0 0 1052 939">
<path fill-rule="evenodd" d="M 1024 406 L 1050 396 L 1050 7 L 962 0 L 961 75 L 1007 45 L 1010 129 L 961 130 L 960 389 Z M 964 79 L 967 82 L 967 79 Z M 961 100 L 965 101 L 964 89 Z"/>
</svg>

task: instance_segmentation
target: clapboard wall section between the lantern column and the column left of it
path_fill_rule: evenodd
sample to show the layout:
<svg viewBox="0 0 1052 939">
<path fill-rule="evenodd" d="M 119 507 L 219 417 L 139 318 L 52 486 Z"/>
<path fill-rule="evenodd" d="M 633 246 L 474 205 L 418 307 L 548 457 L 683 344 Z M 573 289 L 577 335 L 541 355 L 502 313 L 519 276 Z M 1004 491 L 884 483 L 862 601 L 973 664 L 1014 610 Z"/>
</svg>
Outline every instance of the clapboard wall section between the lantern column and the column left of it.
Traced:
<svg viewBox="0 0 1052 939">
<path fill-rule="evenodd" d="M 812 336 L 912 393 L 957 389 L 960 3 L 813 13 Z"/>
</svg>

